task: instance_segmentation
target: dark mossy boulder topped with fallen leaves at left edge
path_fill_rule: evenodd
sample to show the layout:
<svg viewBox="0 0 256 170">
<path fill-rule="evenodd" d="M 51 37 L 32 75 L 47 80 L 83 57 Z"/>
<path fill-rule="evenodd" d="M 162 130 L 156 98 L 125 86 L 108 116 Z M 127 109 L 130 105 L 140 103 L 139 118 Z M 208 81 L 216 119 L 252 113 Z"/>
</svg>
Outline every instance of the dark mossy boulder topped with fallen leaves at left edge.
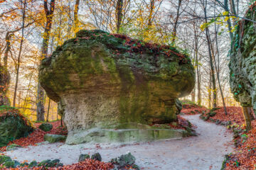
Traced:
<svg viewBox="0 0 256 170">
<path fill-rule="evenodd" d="M 0 106 L 0 147 L 31 132 L 31 123 L 16 108 Z"/>
</svg>

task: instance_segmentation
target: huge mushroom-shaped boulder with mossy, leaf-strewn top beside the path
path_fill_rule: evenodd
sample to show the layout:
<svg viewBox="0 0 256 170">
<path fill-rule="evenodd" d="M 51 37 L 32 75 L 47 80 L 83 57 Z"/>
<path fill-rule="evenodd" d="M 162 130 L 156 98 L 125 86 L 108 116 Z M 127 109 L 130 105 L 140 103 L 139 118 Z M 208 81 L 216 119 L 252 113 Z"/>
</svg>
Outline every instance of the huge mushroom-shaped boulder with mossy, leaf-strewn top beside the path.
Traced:
<svg viewBox="0 0 256 170">
<path fill-rule="evenodd" d="M 176 98 L 194 86 L 191 60 L 174 47 L 80 30 L 43 60 L 39 80 L 59 102 L 68 144 L 180 137 L 154 123 L 176 121 Z"/>
</svg>

